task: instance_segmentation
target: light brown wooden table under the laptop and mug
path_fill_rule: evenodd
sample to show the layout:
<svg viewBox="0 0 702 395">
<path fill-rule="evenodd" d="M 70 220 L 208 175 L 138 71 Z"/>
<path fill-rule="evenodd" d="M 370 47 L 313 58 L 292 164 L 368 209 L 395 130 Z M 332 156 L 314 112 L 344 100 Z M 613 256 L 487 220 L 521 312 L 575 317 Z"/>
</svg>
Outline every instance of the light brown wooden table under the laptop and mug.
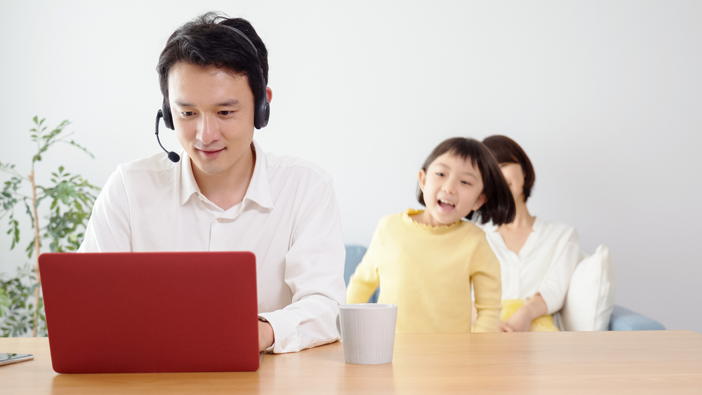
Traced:
<svg viewBox="0 0 702 395">
<path fill-rule="evenodd" d="M 0 394 L 702 394 L 702 335 L 647 332 L 397 335 L 392 363 L 344 363 L 339 342 L 263 356 L 253 373 L 58 375 L 46 338 L 0 338 L 34 361 L 0 367 Z"/>
</svg>

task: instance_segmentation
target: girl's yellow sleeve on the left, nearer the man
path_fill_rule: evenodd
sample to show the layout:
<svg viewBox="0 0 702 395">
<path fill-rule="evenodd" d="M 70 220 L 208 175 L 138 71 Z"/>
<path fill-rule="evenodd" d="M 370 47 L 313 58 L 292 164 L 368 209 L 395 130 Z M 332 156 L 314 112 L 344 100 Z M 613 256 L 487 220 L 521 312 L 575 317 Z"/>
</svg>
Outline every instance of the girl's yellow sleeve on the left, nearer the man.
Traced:
<svg viewBox="0 0 702 395">
<path fill-rule="evenodd" d="M 379 230 L 376 229 L 376 232 L 373 233 L 373 239 L 371 239 L 371 245 L 366 250 L 366 254 L 363 255 L 363 260 L 349 279 L 349 286 L 346 289 L 347 303 L 367 303 L 371 295 L 376 292 L 380 285 L 378 263 L 382 248 Z"/>
</svg>

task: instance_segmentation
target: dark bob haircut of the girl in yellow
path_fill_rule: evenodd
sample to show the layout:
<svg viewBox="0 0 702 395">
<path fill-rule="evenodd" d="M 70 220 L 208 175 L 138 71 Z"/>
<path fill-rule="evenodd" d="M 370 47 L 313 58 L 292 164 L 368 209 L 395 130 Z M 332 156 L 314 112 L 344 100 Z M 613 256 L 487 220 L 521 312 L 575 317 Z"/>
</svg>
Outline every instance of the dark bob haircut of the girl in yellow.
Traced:
<svg viewBox="0 0 702 395">
<path fill-rule="evenodd" d="M 503 225 L 515 220 L 515 199 L 512 197 L 510 187 L 505 182 L 494 156 L 482 142 L 472 138 L 449 138 L 449 140 L 437 145 L 424 161 L 422 170 L 427 171 L 429 165 L 446 152 L 450 152 L 464 161 L 470 158 L 472 166 L 477 166 L 480 170 L 483 194 L 486 197 L 486 202 L 477 210 L 481 223 L 492 221 L 495 225 Z M 417 200 L 422 206 L 426 206 L 424 194 L 419 185 L 417 185 Z M 471 211 L 465 218 L 471 220 L 474 213 L 475 211 Z"/>
</svg>

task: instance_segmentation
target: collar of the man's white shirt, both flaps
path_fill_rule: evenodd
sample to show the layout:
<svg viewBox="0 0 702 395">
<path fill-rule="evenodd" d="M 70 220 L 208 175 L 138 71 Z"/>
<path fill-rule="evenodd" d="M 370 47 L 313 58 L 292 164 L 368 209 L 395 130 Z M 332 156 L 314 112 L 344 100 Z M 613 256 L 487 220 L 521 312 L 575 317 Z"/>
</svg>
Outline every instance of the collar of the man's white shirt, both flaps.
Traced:
<svg viewBox="0 0 702 395">
<path fill-rule="evenodd" d="M 253 140 L 252 144 L 256 152 L 256 161 L 253 163 L 253 175 L 251 175 L 249 189 L 246 189 L 244 201 L 253 201 L 263 208 L 273 208 L 273 203 L 270 199 L 268 174 L 266 172 L 265 153 L 256 140 Z M 180 155 L 180 158 L 180 206 L 185 206 L 185 203 L 190 200 L 190 196 L 199 194 L 200 188 L 195 182 L 194 175 L 192 175 L 190 156 L 187 156 L 185 150 Z"/>
</svg>

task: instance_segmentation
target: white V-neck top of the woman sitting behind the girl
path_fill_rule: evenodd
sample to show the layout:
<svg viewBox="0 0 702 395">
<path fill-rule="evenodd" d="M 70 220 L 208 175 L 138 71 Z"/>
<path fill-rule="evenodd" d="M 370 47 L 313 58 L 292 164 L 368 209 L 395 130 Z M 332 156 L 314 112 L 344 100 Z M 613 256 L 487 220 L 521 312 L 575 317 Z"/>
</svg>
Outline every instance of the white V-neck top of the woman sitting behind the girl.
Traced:
<svg viewBox="0 0 702 395">
<path fill-rule="evenodd" d="M 580 239 L 574 227 L 534 220 L 532 232 L 519 253 L 507 248 L 497 225 L 476 224 L 483 229 L 500 260 L 502 299 L 527 299 L 541 294 L 548 314 L 558 312 L 568 293 L 580 256 Z"/>
</svg>

